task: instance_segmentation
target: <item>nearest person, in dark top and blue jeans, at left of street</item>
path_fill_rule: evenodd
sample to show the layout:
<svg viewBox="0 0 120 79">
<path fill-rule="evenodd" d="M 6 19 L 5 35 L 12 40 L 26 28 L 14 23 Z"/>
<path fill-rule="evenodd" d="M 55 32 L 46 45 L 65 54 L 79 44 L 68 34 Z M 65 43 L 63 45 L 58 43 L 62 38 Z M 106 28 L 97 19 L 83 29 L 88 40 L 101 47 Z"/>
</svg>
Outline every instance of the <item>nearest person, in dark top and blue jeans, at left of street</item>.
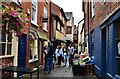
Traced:
<svg viewBox="0 0 120 79">
<path fill-rule="evenodd" d="M 53 68 L 53 44 L 48 42 L 47 54 L 45 54 L 45 73 L 50 73 Z"/>
</svg>

